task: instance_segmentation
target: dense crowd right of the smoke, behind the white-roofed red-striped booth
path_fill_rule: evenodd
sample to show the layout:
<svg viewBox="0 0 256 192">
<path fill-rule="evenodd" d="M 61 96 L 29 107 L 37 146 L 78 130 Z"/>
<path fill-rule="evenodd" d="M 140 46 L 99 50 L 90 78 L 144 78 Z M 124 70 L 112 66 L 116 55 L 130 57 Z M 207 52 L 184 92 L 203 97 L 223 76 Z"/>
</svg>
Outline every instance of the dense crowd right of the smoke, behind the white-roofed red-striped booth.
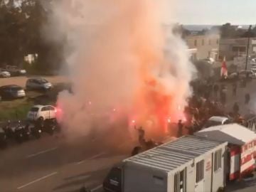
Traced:
<svg viewBox="0 0 256 192">
<path fill-rule="evenodd" d="M 216 82 L 213 80 L 192 83 L 194 95 L 188 101 L 185 114 L 188 116 L 188 130 L 190 133 L 198 131 L 203 124 L 213 116 L 228 117 L 231 122 L 247 125 L 245 118 L 240 114 L 238 102 L 234 102 L 233 109 L 228 109 L 227 99 L 236 98 L 238 86 L 246 87 L 247 80 L 233 81 L 231 83 L 232 95 L 228 95 L 226 82 Z M 242 92 L 245 92 L 242 90 Z M 227 97 L 228 95 L 228 97 Z M 245 92 L 245 105 L 250 103 L 250 93 Z"/>
</svg>

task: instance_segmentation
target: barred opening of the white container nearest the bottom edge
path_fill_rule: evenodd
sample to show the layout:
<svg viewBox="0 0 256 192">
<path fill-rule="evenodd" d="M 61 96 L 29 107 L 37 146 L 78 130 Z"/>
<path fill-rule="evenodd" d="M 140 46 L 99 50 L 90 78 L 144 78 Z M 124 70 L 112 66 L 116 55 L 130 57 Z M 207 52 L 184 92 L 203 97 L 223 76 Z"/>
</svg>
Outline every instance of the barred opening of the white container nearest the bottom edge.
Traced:
<svg viewBox="0 0 256 192">
<path fill-rule="evenodd" d="M 186 169 L 174 175 L 174 192 L 186 192 Z"/>
</svg>

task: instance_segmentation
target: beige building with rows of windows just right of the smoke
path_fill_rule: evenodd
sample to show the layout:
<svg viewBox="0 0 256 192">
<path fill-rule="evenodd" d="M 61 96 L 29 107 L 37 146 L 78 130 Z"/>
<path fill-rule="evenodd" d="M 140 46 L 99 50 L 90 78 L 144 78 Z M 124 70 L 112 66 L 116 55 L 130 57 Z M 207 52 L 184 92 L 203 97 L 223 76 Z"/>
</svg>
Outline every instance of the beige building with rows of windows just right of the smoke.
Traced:
<svg viewBox="0 0 256 192">
<path fill-rule="evenodd" d="M 196 49 L 198 60 L 213 58 L 218 60 L 220 36 L 217 34 L 186 36 L 185 41 L 189 49 Z"/>
</svg>

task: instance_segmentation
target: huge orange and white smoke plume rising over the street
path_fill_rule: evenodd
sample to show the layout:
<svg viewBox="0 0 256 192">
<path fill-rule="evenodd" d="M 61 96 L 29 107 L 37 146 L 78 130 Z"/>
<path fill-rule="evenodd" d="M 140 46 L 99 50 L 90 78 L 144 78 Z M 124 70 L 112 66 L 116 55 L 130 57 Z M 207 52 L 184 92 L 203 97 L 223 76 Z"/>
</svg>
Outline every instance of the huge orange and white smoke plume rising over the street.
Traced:
<svg viewBox="0 0 256 192">
<path fill-rule="evenodd" d="M 89 132 L 94 119 L 122 114 L 150 120 L 156 133 L 181 118 L 193 65 L 181 38 L 163 30 L 159 1 L 63 0 L 51 9 L 48 38 L 68 41 L 73 82 L 73 94 L 58 96 L 65 127 Z"/>
</svg>

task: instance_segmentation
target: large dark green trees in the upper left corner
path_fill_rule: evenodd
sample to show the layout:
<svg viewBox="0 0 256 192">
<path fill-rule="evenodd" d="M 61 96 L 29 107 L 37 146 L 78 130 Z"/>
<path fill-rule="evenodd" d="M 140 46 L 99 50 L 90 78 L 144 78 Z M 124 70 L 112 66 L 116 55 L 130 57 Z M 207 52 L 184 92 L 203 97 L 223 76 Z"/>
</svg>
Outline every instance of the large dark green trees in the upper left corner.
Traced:
<svg viewBox="0 0 256 192">
<path fill-rule="evenodd" d="M 38 70 L 60 67 L 63 43 L 46 42 L 41 34 L 48 14 L 37 0 L 0 0 L 0 67 L 6 63 L 21 65 L 25 55 L 35 53 Z"/>
</svg>

